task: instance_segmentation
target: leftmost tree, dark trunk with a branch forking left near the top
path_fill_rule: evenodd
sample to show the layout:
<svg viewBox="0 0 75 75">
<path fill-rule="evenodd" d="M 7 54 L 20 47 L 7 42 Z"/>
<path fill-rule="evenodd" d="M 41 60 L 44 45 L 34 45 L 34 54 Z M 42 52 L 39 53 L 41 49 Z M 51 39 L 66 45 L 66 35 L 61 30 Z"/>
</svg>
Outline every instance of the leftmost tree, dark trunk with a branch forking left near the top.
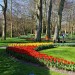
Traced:
<svg viewBox="0 0 75 75">
<path fill-rule="evenodd" d="M 3 12 L 3 25 L 2 25 L 2 39 L 6 40 L 6 10 L 7 10 L 7 0 L 3 0 L 4 6 L 0 4 Z"/>
</svg>

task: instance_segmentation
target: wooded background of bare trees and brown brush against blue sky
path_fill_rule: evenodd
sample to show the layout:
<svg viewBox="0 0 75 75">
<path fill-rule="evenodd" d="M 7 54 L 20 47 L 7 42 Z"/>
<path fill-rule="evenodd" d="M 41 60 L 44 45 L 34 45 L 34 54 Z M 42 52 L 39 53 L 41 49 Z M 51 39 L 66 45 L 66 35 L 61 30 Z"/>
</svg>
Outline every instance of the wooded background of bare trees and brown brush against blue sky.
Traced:
<svg viewBox="0 0 75 75">
<path fill-rule="evenodd" d="M 72 0 L 3 0 L 0 4 L 0 37 L 41 34 L 54 40 L 59 35 L 75 34 L 75 1 Z M 57 32 L 55 32 L 55 29 Z"/>
</svg>

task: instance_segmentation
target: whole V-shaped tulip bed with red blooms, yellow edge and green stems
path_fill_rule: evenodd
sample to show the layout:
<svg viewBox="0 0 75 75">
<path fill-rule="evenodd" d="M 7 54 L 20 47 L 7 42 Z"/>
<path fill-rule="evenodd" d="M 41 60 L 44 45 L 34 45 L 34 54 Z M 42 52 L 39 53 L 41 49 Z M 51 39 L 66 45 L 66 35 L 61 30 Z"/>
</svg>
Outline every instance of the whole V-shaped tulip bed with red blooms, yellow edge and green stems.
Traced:
<svg viewBox="0 0 75 75">
<path fill-rule="evenodd" d="M 31 62 L 36 62 L 36 63 L 42 63 L 51 66 L 51 67 L 56 67 L 59 69 L 64 69 L 68 71 L 75 71 L 75 63 L 71 61 L 67 61 L 63 58 L 56 58 L 53 56 L 48 56 L 47 54 L 40 53 L 35 50 L 38 46 L 42 44 L 13 44 L 7 47 L 6 51 L 9 54 L 12 54 L 13 56 L 16 56 L 20 59 L 28 60 Z M 44 44 L 43 44 L 44 45 Z M 47 44 L 45 44 L 47 45 Z"/>
</svg>

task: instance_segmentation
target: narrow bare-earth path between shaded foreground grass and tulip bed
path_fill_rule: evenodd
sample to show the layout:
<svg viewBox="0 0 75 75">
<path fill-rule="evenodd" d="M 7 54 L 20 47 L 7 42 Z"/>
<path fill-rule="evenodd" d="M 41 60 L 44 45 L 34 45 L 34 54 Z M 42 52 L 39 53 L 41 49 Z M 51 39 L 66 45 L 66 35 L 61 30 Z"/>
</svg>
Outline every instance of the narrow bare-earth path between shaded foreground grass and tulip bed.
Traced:
<svg viewBox="0 0 75 75">
<path fill-rule="evenodd" d="M 57 68 L 45 67 L 45 66 L 43 67 L 43 66 L 40 66 L 40 65 L 38 65 L 38 64 L 34 64 L 34 63 L 31 63 L 31 62 L 26 62 L 26 61 L 19 60 L 19 59 L 15 58 L 15 57 L 12 57 L 12 58 L 13 58 L 14 60 L 16 60 L 16 61 L 22 63 L 22 64 L 30 64 L 30 65 L 32 65 L 32 66 L 46 68 L 46 69 L 48 69 L 48 70 L 51 70 L 51 71 L 54 71 L 54 72 L 58 72 L 58 73 L 62 73 L 62 74 L 64 74 L 64 75 L 75 75 L 75 72 L 72 72 L 72 71 L 66 71 L 66 70 L 61 70 L 61 69 L 59 70 L 59 69 L 57 69 Z"/>
</svg>

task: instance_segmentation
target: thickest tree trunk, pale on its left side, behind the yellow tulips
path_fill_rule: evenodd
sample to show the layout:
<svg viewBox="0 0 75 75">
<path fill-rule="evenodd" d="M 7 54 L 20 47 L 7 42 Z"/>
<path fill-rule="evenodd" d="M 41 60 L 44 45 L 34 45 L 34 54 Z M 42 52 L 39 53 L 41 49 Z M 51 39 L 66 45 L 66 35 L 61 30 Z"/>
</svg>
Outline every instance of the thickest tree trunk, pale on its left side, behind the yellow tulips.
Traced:
<svg viewBox="0 0 75 75">
<path fill-rule="evenodd" d="M 36 41 L 41 41 L 41 32 L 42 32 L 42 0 L 38 0 L 36 5 Z"/>
</svg>

